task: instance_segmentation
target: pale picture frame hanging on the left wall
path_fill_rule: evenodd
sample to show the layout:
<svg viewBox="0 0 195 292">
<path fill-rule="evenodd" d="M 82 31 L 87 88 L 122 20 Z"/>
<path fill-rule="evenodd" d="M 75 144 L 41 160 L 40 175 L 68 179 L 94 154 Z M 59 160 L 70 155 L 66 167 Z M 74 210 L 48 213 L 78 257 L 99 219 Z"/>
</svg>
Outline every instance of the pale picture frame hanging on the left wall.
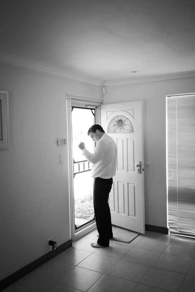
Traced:
<svg viewBox="0 0 195 292">
<path fill-rule="evenodd" d="M 10 148 L 9 94 L 0 90 L 0 150 Z"/>
</svg>

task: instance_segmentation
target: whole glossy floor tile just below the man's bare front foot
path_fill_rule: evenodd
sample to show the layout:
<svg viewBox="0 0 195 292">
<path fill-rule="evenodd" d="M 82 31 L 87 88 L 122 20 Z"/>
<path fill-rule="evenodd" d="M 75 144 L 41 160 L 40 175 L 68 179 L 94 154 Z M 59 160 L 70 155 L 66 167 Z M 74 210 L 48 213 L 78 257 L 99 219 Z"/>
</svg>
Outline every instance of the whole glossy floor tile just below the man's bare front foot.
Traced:
<svg viewBox="0 0 195 292">
<path fill-rule="evenodd" d="M 106 273 L 119 259 L 100 254 L 92 253 L 88 258 L 83 260 L 78 267 L 90 269 L 100 273 Z"/>
</svg>

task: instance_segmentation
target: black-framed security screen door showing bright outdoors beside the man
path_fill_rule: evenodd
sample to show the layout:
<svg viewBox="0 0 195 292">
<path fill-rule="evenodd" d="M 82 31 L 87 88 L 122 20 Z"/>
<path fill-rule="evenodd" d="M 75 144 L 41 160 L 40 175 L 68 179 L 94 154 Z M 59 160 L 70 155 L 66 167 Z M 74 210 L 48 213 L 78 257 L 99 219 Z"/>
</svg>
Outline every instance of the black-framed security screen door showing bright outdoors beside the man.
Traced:
<svg viewBox="0 0 195 292">
<path fill-rule="evenodd" d="M 88 129 L 93 124 L 95 124 L 95 109 L 72 107 L 75 229 L 90 221 L 95 222 L 91 165 L 78 147 L 79 142 L 84 142 L 90 152 L 94 151 L 93 141 L 87 135 Z"/>
</svg>

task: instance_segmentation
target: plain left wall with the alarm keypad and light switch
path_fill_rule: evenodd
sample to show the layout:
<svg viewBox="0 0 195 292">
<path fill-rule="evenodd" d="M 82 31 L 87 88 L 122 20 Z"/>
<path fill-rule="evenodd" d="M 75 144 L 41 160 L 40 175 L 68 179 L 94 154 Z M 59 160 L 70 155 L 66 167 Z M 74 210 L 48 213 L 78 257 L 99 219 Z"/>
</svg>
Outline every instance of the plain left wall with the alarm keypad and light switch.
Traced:
<svg viewBox="0 0 195 292">
<path fill-rule="evenodd" d="M 70 239 L 66 94 L 103 99 L 102 87 L 5 63 L 11 149 L 0 150 L 0 280 Z M 2 265 L 3 263 L 3 265 Z"/>
</svg>

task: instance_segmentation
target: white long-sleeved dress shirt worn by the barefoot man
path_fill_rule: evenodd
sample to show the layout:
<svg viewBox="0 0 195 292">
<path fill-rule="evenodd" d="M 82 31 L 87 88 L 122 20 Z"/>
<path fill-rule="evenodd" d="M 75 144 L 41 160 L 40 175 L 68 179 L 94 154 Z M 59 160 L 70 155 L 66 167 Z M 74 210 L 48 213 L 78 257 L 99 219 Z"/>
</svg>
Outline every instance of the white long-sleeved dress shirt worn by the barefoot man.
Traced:
<svg viewBox="0 0 195 292">
<path fill-rule="evenodd" d="M 90 153 L 86 148 L 82 151 L 86 159 L 93 164 L 91 168 L 93 178 L 108 179 L 116 174 L 116 144 L 110 136 L 102 135 L 97 142 L 94 153 Z"/>
</svg>

